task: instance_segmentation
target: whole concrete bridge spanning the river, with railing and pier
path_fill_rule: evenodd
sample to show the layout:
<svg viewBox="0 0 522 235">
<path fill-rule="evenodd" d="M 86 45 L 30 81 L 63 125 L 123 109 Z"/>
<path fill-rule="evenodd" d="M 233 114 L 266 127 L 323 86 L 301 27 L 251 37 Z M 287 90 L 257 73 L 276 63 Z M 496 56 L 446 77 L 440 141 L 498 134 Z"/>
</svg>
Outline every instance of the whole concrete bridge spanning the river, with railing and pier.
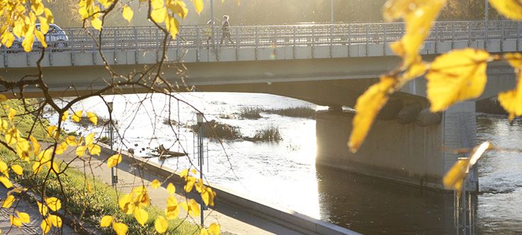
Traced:
<svg viewBox="0 0 522 235">
<path fill-rule="evenodd" d="M 306 25 L 232 26 L 234 43 L 220 43 L 220 28 L 182 26 L 176 40 L 166 43 L 166 63 L 182 62 L 186 80 L 178 69 L 166 66 L 164 77 L 186 82 L 198 91 L 271 93 L 328 105 L 317 113 L 317 163 L 405 183 L 441 188 L 441 177 L 459 157 L 443 147 L 476 144 L 475 102 L 467 101 L 438 115 L 430 125 L 415 125 L 418 113 L 426 113 L 426 84 L 417 79 L 395 94 L 381 112 L 358 154 L 351 154 L 346 140 L 356 98 L 380 74 L 400 62 L 390 43 L 401 38 L 403 23 L 348 23 Z M 65 48 L 50 48 L 42 60 L 44 79 L 53 96 L 76 96 L 101 88 L 110 79 L 102 55 L 122 74 L 159 62 L 164 35 L 154 27 L 104 28 L 101 48 L 97 30 L 64 29 Z M 511 21 L 436 22 L 421 50 L 427 59 L 453 49 L 475 47 L 489 52 L 520 51 L 521 23 Z M 51 44 L 52 45 L 52 44 Z M 16 81 L 33 74 L 39 50 L 1 49 L 0 76 Z M 494 96 L 514 85 L 514 71 L 495 62 L 488 67 L 489 81 L 481 98 Z M 36 87 L 26 97 L 42 96 Z M 14 91 L 16 92 L 16 91 Z M 123 93 L 136 92 L 123 89 Z M 138 91 L 139 92 L 139 91 Z M 6 93 L 14 96 L 13 93 Z M 423 111 L 424 110 L 424 111 Z M 413 116 L 410 120 L 397 116 Z M 412 120 L 411 120 L 412 119 Z M 437 119 L 437 118 L 436 118 Z"/>
</svg>

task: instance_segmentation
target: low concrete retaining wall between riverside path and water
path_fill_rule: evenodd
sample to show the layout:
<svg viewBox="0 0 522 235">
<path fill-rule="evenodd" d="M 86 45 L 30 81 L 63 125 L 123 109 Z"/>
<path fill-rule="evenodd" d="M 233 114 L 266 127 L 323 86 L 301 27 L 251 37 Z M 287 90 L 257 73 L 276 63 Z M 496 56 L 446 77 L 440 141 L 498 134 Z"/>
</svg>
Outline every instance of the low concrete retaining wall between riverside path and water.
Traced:
<svg viewBox="0 0 522 235">
<path fill-rule="evenodd" d="M 103 153 L 110 154 L 110 149 L 106 144 L 98 144 L 102 146 Z M 123 161 L 126 161 L 129 164 L 141 166 L 144 170 L 155 173 L 158 176 L 168 178 L 173 183 L 184 183 L 183 178 L 178 175 L 178 172 L 175 172 L 171 168 L 161 166 L 160 164 L 156 164 L 139 157 L 132 157 L 125 151 L 122 153 L 122 155 Z M 268 205 L 268 203 L 248 199 L 246 196 L 241 195 L 240 193 L 222 188 L 219 185 L 212 185 L 211 187 L 216 192 L 216 205 L 219 205 L 220 203 L 232 205 L 239 210 L 244 210 L 251 214 L 255 214 L 258 217 L 268 219 L 271 222 L 280 224 L 283 227 L 289 227 L 290 229 L 299 231 L 302 234 L 358 234 L 355 231 L 351 231 L 334 224 L 329 224 L 319 219 L 314 219 L 305 214 L 300 214 L 282 208 L 276 208 L 272 205 Z"/>
</svg>

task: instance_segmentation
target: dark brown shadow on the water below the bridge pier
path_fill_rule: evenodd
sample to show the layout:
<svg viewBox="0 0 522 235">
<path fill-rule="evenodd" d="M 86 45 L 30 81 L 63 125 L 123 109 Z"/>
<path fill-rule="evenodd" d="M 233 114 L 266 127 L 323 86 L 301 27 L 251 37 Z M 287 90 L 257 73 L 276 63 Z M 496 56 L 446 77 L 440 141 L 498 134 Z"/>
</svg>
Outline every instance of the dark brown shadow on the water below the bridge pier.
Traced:
<svg viewBox="0 0 522 235">
<path fill-rule="evenodd" d="M 363 234 L 453 234 L 453 193 L 317 166 L 321 218 Z"/>
</svg>

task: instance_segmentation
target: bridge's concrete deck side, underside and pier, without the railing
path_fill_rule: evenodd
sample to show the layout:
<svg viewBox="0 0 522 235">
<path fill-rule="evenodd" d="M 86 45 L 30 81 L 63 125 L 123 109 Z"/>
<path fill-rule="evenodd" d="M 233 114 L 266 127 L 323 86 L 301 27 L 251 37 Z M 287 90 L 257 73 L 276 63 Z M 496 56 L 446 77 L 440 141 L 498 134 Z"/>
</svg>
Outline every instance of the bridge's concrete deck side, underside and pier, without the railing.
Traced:
<svg viewBox="0 0 522 235">
<path fill-rule="evenodd" d="M 426 110 L 426 80 L 416 79 L 390 99 L 357 154 L 346 147 L 351 132 L 352 113 L 340 107 L 353 107 L 356 99 L 385 71 L 395 67 L 396 57 L 343 59 L 298 59 L 254 62 L 213 62 L 185 64 L 189 76 L 180 79 L 180 70 L 169 64 L 162 75 L 180 91 L 195 86 L 196 91 L 269 93 L 288 96 L 333 109 L 317 114 L 317 164 L 334 166 L 405 183 L 442 188 L 441 178 L 460 155 L 443 151 L 473 147 L 476 142 L 475 102 L 467 101 L 437 114 L 438 121 L 418 125 Z M 141 71 L 143 65 L 115 66 L 120 74 Z M 181 71 L 183 73 L 184 71 Z M 17 81 L 35 69 L 5 69 L 0 76 Z M 112 82 L 103 67 L 46 67 L 44 79 L 52 96 L 79 96 L 92 93 Z M 514 86 L 514 71 L 507 64 L 492 63 L 484 95 L 495 96 Z M 154 74 L 152 74 L 154 75 Z M 154 77 L 154 76 L 152 76 Z M 150 81 L 150 78 L 146 78 Z M 157 85 L 157 88 L 163 88 Z M 42 97 L 39 88 L 26 87 L 25 97 Z M 19 96 L 5 93 L 10 97 Z M 103 94 L 149 93 L 142 86 L 123 86 Z M 406 119 L 398 118 L 406 113 Z M 430 118 L 433 115 L 429 116 Z"/>
</svg>

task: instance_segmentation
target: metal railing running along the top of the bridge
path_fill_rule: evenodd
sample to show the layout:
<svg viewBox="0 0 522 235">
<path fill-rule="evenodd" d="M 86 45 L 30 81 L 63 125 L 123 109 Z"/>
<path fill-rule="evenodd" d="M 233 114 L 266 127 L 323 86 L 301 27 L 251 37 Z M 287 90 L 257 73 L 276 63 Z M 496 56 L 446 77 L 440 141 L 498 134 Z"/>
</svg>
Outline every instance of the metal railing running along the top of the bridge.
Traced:
<svg viewBox="0 0 522 235">
<path fill-rule="evenodd" d="M 442 21 L 433 25 L 426 41 L 520 39 L 521 28 L 520 22 L 513 21 Z M 401 38 L 405 28 L 404 23 L 347 23 L 231 26 L 230 30 L 234 43 L 221 44 L 220 27 L 214 28 L 214 39 L 209 40 L 210 28 L 183 25 L 175 40 L 167 37 L 167 46 L 170 49 L 191 49 L 384 44 Z M 67 48 L 52 48 L 53 51 L 96 52 L 100 46 L 98 30 L 65 28 L 64 31 L 69 38 Z M 103 28 L 101 48 L 104 51 L 161 50 L 164 38 L 164 33 L 156 27 L 107 27 Z M 16 52 L 6 48 L 3 50 Z"/>
</svg>

